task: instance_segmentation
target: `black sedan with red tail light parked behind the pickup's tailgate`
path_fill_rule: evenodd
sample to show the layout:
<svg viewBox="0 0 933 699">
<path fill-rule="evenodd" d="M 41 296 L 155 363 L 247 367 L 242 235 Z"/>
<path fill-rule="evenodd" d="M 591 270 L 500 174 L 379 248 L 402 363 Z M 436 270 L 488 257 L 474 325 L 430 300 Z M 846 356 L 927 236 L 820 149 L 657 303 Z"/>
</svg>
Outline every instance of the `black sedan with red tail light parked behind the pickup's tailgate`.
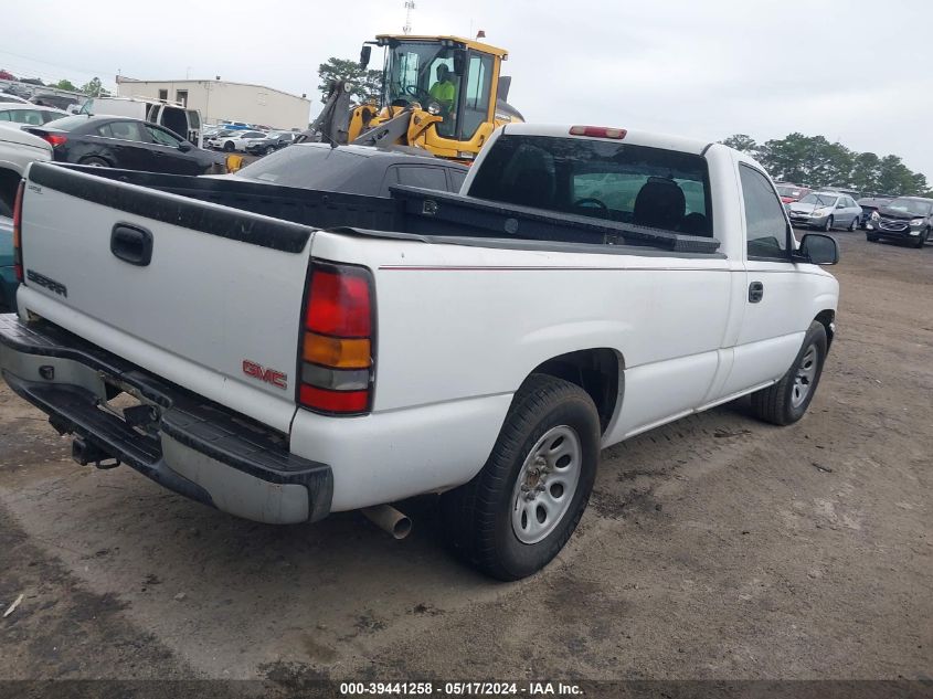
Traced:
<svg viewBox="0 0 933 699">
<path fill-rule="evenodd" d="M 223 157 L 140 119 L 77 115 L 28 128 L 52 144 L 56 161 L 171 174 L 203 174 Z"/>
</svg>

